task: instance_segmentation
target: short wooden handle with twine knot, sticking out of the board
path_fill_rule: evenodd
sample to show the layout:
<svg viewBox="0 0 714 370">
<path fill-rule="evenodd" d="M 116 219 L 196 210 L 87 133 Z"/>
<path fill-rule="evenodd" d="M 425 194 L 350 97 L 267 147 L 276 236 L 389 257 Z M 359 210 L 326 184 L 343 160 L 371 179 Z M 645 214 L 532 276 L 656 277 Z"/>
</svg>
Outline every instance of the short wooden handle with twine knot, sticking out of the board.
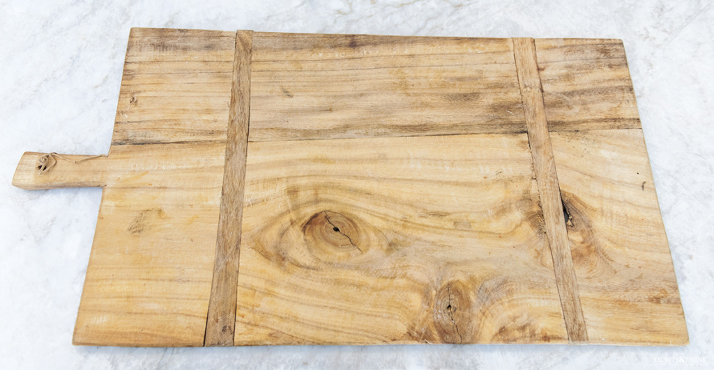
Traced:
<svg viewBox="0 0 714 370">
<path fill-rule="evenodd" d="M 17 164 L 12 185 L 26 190 L 105 186 L 107 157 L 25 152 Z"/>
</svg>

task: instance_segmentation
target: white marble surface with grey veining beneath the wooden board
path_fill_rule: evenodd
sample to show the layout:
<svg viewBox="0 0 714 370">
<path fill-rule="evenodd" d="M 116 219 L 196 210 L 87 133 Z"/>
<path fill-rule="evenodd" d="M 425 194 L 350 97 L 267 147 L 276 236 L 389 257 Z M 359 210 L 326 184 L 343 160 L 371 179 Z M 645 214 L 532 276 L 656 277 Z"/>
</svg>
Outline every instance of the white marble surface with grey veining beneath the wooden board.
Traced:
<svg viewBox="0 0 714 370">
<path fill-rule="evenodd" d="M 710 1 L 0 1 L 0 368 L 714 367 Z M 622 38 L 690 334 L 681 348 L 73 347 L 99 189 L 10 186 L 22 152 L 109 149 L 132 26 Z M 674 362 L 663 362 L 674 361 Z"/>
</svg>

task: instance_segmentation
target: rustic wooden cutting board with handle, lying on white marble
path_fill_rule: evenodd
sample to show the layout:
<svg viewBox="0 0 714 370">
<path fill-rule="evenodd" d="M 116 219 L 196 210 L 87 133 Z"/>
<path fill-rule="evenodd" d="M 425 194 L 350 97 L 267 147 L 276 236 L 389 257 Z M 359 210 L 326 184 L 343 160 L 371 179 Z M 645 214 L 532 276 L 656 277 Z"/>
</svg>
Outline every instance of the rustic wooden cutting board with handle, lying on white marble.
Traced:
<svg viewBox="0 0 714 370">
<path fill-rule="evenodd" d="M 13 184 L 104 189 L 74 344 L 688 343 L 619 40 L 134 28 Z"/>
</svg>

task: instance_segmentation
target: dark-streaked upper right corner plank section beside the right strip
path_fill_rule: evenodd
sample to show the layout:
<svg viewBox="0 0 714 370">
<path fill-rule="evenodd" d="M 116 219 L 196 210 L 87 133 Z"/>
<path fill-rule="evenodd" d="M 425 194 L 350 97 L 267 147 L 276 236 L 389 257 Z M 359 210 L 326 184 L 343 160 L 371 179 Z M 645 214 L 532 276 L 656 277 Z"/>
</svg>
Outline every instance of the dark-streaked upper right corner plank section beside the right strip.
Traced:
<svg viewBox="0 0 714 370">
<path fill-rule="evenodd" d="M 640 128 L 621 40 L 537 38 L 551 131 Z"/>
</svg>

